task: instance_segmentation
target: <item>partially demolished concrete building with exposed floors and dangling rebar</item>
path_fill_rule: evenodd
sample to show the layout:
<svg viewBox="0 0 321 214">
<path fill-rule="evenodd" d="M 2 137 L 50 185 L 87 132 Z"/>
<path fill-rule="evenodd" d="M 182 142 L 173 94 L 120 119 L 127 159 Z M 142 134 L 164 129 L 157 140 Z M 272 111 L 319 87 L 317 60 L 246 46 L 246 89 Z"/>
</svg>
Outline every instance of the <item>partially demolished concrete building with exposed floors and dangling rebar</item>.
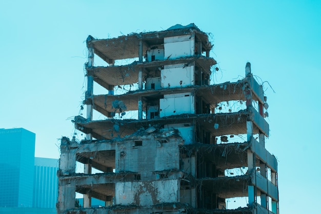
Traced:
<svg viewBox="0 0 321 214">
<path fill-rule="evenodd" d="M 59 214 L 278 213 L 277 161 L 265 149 L 268 105 L 250 63 L 243 80 L 212 84 L 212 44 L 193 24 L 89 36 L 87 47 L 87 116 L 73 121 L 86 139 L 62 138 Z M 108 66 L 95 67 L 94 55 Z M 108 93 L 94 95 L 94 82 Z M 126 85 L 130 91 L 114 94 Z M 93 110 L 105 119 L 93 120 Z M 137 118 L 126 119 L 130 111 Z M 237 136 L 244 141 L 232 142 Z M 75 208 L 76 192 L 84 194 L 82 208 Z M 247 204 L 229 209 L 227 200 L 238 197 Z M 106 206 L 91 207 L 91 198 Z"/>
</svg>

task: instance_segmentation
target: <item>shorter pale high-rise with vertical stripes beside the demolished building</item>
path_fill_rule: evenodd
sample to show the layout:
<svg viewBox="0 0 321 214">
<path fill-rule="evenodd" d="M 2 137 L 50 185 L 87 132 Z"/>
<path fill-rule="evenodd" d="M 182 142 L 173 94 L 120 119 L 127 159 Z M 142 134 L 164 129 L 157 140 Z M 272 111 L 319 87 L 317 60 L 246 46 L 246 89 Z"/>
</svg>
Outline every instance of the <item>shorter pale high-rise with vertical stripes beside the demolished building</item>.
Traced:
<svg viewBox="0 0 321 214">
<path fill-rule="evenodd" d="M 56 206 L 58 165 L 58 159 L 34 159 L 33 207 L 54 208 Z"/>
</svg>

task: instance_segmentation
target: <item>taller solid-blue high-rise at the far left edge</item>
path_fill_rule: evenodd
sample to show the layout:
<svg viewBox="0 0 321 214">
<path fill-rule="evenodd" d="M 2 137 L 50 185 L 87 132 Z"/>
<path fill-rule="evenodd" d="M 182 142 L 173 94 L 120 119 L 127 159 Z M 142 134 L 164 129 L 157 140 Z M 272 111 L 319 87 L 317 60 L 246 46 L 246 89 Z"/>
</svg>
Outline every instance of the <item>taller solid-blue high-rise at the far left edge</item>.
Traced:
<svg viewBox="0 0 321 214">
<path fill-rule="evenodd" d="M 35 133 L 0 129 L 0 206 L 32 207 Z"/>
</svg>

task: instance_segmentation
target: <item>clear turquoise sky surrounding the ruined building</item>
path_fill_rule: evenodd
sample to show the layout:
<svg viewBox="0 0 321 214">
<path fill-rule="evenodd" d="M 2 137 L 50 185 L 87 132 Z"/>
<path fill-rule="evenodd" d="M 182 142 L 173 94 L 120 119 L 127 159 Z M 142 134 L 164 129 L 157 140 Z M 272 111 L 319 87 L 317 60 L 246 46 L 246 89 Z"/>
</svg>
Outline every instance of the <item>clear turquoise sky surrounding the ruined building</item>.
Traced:
<svg viewBox="0 0 321 214">
<path fill-rule="evenodd" d="M 315 213 L 321 177 L 321 1 L 0 1 L 0 128 L 36 133 L 37 157 L 59 158 L 84 98 L 85 40 L 195 23 L 212 33 L 215 83 L 252 73 L 269 103 L 280 213 Z M 85 113 L 85 112 L 84 112 Z"/>
</svg>

